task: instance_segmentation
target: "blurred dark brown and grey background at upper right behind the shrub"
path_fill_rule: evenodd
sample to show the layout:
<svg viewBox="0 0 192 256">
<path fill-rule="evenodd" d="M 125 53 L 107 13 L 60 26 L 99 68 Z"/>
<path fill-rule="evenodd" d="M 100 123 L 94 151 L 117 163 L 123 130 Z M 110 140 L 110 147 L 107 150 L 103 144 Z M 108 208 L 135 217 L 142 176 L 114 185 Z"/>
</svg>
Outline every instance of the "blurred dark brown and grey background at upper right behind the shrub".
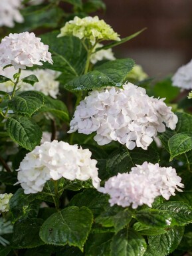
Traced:
<svg viewBox="0 0 192 256">
<path fill-rule="evenodd" d="M 132 57 L 150 76 L 174 73 L 192 58 L 192 0 L 104 0 L 97 13 L 121 37 L 147 30 L 114 48 L 117 57 Z"/>
</svg>

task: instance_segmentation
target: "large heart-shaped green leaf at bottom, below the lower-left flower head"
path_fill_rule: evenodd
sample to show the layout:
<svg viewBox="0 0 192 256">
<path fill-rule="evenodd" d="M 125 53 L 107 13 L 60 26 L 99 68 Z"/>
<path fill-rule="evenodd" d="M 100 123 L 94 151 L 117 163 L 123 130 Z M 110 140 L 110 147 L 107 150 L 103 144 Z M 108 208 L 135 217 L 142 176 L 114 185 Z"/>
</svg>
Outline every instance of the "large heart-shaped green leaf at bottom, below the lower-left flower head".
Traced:
<svg viewBox="0 0 192 256">
<path fill-rule="evenodd" d="M 52 245 L 74 245 L 81 251 L 92 226 L 92 213 L 87 207 L 66 207 L 43 223 L 40 237 Z"/>
</svg>

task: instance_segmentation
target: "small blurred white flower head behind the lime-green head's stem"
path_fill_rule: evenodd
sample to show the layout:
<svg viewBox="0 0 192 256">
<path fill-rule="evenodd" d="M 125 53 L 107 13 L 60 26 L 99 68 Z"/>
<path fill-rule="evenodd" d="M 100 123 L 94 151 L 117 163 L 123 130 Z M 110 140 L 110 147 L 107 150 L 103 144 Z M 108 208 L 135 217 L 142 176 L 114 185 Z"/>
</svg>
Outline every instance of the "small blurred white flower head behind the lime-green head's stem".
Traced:
<svg viewBox="0 0 192 256">
<path fill-rule="evenodd" d="M 109 60 L 109 61 L 114 61 L 116 58 L 114 57 L 114 53 L 112 52 L 112 49 L 107 49 L 107 50 L 100 50 L 95 52 L 97 48 L 102 47 L 103 45 L 100 43 L 96 44 L 96 47 L 94 47 L 94 53 L 92 53 L 90 57 L 90 62 L 92 64 L 96 64 L 98 61 L 102 60 Z"/>
</svg>

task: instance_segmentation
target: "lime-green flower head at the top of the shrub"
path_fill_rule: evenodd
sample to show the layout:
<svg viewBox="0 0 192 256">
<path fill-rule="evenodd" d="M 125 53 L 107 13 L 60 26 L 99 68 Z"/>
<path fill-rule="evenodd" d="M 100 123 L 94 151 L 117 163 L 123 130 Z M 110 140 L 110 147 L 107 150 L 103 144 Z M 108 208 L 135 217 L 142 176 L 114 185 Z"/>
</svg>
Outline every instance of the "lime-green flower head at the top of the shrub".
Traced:
<svg viewBox="0 0 192 256">
<path fill-rule="evenodd" d="M 114 32 L 112 27 L 103 19 L 95 17 L 85 17 L 80 19 L 74 17 L 72 21 L 68 21 L 62 29 L 58 37 L 73 35 L 79 39 L 88 39 L 91 45 L 95 45 L 96 41 L 114 40 L 120 41 L 118 33 Z"/>
</svg>

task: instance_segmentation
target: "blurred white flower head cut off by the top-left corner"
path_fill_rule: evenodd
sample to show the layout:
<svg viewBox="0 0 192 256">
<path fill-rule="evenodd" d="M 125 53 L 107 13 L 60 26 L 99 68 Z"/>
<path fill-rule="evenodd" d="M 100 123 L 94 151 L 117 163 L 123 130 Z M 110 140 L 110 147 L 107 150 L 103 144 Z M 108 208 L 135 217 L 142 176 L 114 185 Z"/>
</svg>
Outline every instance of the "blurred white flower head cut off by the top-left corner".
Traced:
<svg viewBox="0 0 192 256">
<path fill-rule="evenodd" d="M 22 23 L 23 16 L 19 12 L 23 0 L 0 1 L 0 27 L 14 27 L 15 22 Z"/>
</svg>

